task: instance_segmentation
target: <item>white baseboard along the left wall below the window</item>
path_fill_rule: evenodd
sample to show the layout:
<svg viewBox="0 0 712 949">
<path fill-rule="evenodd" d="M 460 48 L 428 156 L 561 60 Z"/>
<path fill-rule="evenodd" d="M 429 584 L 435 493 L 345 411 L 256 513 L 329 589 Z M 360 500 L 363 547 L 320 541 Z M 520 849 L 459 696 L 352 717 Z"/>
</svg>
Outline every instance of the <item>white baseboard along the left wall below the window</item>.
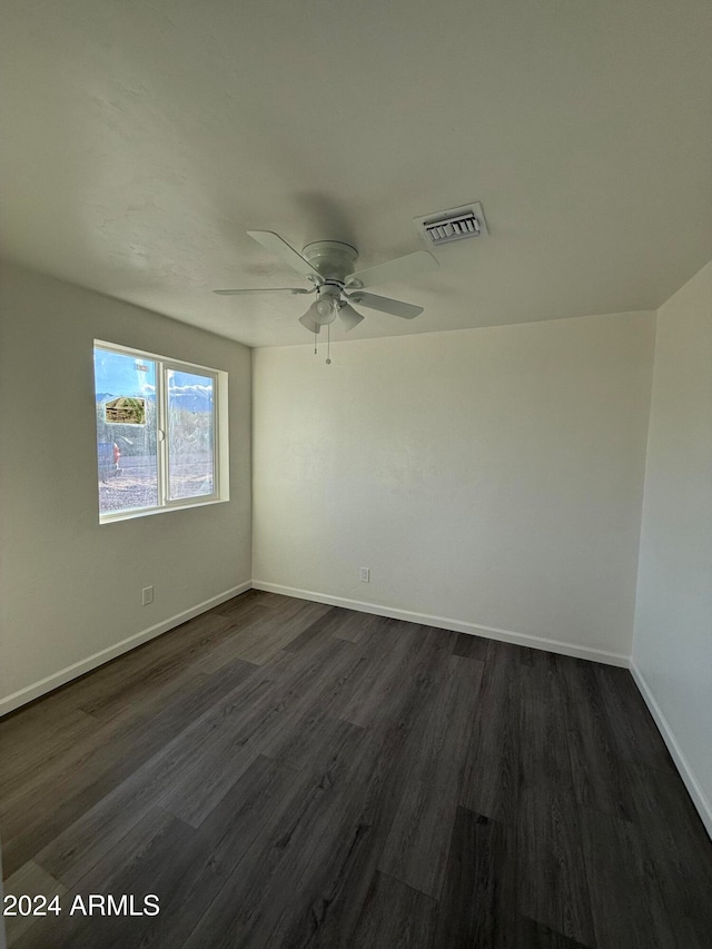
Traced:
<svg viewBox="0 0 712 949">
<path fill-rule="evenodd" d="M 7 715 L 8 712 L 12 712 L 14 709 L 19 709 L 20 705 L 26 705 L 28 702 L 39 699 L 40 695 L 44 695 L 47 692 L 58 689 L 66 682 L 77 679 L 79 675 L 83 675 L 85 672 L 90 672 L 92 669 L 103 665 L 105 662 L 116 659 L 117 655 L 129 652 L 129 650 L 136 649 L 136 646 L 139 646 L 142 643 L 156 639 L 156 636 L 160 636 L 161 633 L 166 633 L 168 630 L 172 630 L 175 626 L 179 626 L 181 623 L 192 620 L 194 616 L 198 616 L 200 613 L 206 613 L 214 606 L 219 606 L 219 604 L 225 603 L 226 600 L 231 600 L 233 596 L 245 593 L 246 590 L 251 590 L 251 581 L 247 580 L 245 583 L 240 583 L 231 590 L 226 590 L 224 593 L 218 593 L 217 596 L 210 597 L 210 600 L 205 600 L 202 603 L 198 603 L 189 610 L 184 610 L 182 613 L 177 613 L 168 620 L 156 623 L 155 626 L 149 626 L 147 630 L 142 630 L 140 633 L 135 633 L 132 636 L 128 636 L 128 639 L 121 640 L 121 642 L 115 643 L 107 649 L 102 649 L 100 652 L 95 652 L 92 655 L 87 656 L 87 659 L 75 662 L 66 669 L 60 669 L 59 672 L 55 672 L 46 679 L 40 679 L 39 682 L 33 682 L 32 685 L 27 685 L 24 689 L 20 689 L 19 692 L 6 695 L 4 699 L 0 699 L 0 718 L 2 715 Z"/>
</svg>

